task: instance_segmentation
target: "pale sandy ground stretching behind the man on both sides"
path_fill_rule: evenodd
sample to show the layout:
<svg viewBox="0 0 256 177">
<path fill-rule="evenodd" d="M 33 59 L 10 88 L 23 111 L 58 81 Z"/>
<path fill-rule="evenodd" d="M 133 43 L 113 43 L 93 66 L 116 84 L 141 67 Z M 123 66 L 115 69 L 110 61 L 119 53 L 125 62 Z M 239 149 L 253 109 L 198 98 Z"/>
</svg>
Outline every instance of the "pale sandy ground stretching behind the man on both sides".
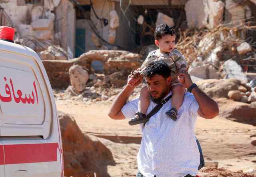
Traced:
<svg viewBox="0 0 256 177">
<path fill-rule="evenodd" d="M 108 166 L 111 177 L 135 176 L 136 155 L 140 144 L 140 129 L 128 125 L 127 120 L 112 120 L 108 117 L 109 103 L 83 103 L 56 100 L 58 110 L 73 115 L 80 129 L 100 137 L 112 152 L 115 166 Z M 256 169 L 256 129 L 252 125 L 216 117 L 198 117 L 196 135 L 203 149 L 206 162 L 218 162 L 218 167 L 231 171 Z"/>
</svg>

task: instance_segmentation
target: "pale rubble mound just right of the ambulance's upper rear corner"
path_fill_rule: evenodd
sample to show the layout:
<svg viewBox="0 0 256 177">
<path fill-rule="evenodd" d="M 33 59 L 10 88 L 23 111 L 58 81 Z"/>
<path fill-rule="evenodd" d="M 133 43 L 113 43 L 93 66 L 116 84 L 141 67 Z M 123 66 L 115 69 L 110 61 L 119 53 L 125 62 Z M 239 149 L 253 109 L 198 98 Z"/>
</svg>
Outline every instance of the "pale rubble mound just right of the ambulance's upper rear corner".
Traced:
<svg viewBox="0 0 256 177">
<path fill-rule="evenodd" d="M 67 52 L 60 46 L 49 46 L 40 52 L 41 60 L 68 60 Z"/>
</svg>

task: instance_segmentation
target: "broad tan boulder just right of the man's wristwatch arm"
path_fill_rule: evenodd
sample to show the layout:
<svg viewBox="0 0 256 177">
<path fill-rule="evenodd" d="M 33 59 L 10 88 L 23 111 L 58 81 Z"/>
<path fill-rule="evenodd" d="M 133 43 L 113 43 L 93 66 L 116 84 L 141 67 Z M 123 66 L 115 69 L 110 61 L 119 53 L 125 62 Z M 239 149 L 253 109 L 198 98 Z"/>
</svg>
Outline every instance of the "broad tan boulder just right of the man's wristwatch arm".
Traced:
<svg viewBox="0 0 256 177">
<path fill-rule="evenodd" d="M 234 79 L 208 79 L 197 81 L 196 84 L 210 97 L 226 97 L 228 98 L 228 92 L 230 90 L 238 90 L 240 85 L 239 80 Z"/>
</svg>

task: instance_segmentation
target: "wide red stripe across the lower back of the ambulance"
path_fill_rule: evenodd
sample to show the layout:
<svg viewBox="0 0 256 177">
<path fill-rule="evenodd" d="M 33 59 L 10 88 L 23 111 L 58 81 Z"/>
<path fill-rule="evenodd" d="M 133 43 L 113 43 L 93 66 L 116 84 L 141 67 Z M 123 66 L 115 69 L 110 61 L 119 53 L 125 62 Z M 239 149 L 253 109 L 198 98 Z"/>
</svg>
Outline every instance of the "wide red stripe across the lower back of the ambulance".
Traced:
<svg viewBox="0 0 256 177">
<path fill-rule="evenodd" d="M 4 145 L 5 162 L 8 165 L 57 161 L 57 148 L 58 143 Z"/>
</svg>

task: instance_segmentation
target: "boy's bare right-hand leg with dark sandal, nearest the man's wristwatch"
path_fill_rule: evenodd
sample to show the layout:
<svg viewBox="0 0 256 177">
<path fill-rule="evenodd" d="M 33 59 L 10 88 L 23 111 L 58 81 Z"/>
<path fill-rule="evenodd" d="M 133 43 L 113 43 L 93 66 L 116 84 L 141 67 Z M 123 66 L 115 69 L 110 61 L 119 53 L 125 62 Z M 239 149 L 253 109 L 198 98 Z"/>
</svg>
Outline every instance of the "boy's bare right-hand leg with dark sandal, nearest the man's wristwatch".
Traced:
<svg viewBox="0 0 256 177">
<path fill-rule="evenodd" d="M 172 109 L 166 112 L 166 114 L 172 118 L 173 120 L 176 120 L 177 118 L 177 112 L 183 102 L 184 93 L 186 89 L 182 85 L 175 85 L 171 87 L 172 90 Z"/>
</svg>

